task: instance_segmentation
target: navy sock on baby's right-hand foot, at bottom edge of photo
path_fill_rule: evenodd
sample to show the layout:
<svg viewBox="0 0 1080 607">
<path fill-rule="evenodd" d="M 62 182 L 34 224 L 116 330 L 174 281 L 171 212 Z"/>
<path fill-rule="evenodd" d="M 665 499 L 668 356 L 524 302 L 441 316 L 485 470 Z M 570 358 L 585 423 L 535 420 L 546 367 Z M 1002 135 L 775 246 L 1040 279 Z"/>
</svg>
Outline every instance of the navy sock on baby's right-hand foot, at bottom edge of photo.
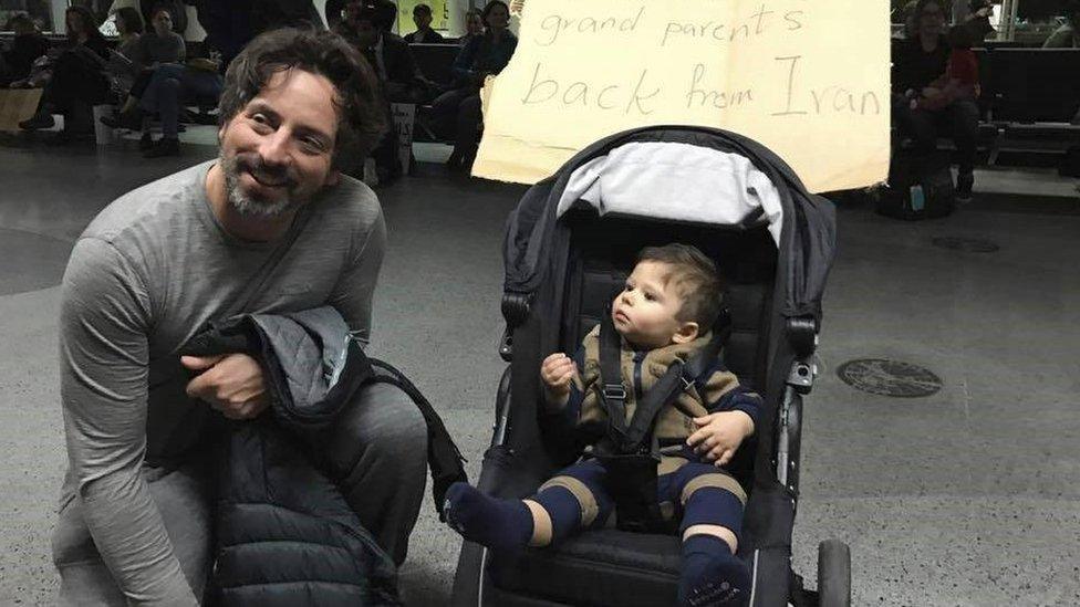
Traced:
<svg viewBox="0 0 1080 607">
<path fill-rule="evenodd" d="M 683 541 L 683 573 L 678 604 L 688 607 L 745 605 L 750 596 L 750 569 L 715 535 Z"/>
</svg>

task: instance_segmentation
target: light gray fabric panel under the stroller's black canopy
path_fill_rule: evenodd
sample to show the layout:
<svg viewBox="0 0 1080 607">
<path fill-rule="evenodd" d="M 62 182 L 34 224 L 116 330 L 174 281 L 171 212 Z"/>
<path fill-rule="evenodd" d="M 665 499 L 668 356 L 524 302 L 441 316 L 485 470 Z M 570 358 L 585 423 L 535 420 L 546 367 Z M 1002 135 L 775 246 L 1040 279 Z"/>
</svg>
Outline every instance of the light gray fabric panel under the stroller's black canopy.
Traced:
<svg viewBox="0 0 1080 607">
<path fill-rule="evenodd" d="M 740 154 L 673 142 L 632 142 L 578 167 L 559 199 L 562 217 L 579 201 L 598 213 L 738 226 L 768 221 L 780 242 L 783 206 L 776 185 Z"/>
</svg>

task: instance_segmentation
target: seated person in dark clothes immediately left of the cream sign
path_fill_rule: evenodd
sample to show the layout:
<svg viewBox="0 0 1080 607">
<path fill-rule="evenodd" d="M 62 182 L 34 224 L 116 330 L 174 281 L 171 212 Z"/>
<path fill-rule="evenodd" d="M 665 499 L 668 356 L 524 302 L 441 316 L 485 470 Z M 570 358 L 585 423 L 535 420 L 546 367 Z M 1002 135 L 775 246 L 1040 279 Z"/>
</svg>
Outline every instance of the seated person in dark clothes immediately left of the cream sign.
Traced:
<svg viewBox="0 0 1080 607">
<path fill-rule="evenodd" d="M 518 39 L 507 29 L 510 9 L 501 0 L 491 0 L 481 13 L 487 31 L 466 44 L 454 60 L 454 90 L 439 95 L 432 104 L 437 123 L 454 125 L 454 153 L 446 161 L 450 170 L 468 172 L 476 159 L 477 133 L 482 121 L 480 87 L 489 75 L 506 67 L 518 46 Z"/>
</svg>

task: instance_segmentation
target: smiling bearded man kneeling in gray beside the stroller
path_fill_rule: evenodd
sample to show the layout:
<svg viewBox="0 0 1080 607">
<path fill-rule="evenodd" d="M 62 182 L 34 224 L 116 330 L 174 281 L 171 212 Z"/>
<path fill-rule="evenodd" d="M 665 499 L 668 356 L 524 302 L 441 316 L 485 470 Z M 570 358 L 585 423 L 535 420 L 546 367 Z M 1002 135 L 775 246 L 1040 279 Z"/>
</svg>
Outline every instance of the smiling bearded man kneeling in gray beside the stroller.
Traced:
<svg viewBox="0 0 1080 607">
<path fill-rule="evenodd" d="M 177 354 L 208 321 L 329 304 L 368 339 L 385 226 L 335 159 L 384 128 L 373 90 L 333 34 L 256 39 L 226 75 L 219 158 L 121 197 L 75 243 L 61 306 L 62 605 L 199 603 L 221 464 L 208 443 L 268 405 L 252 358 Z M 401 563 L 425 483 L 420 414 L 368 387 L 322 444 L 324 472 Z"/>
</svg>

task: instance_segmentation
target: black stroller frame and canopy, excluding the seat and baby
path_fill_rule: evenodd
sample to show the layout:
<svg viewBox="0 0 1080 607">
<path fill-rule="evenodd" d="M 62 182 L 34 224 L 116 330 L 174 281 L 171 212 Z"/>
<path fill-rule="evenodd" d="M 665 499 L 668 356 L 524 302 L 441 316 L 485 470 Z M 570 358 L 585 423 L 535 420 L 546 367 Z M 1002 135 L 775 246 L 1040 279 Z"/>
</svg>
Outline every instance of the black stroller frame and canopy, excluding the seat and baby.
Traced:
<svg viewBox="0 0 1080 607">
<path fill-rule="evenodd" d="M 823 198 L 807 192 L 791 169 L 768 149 L 736 134 L 699 127 L 661 126 L 614 135 L 581 151 L 555 176 L 537 184 L 522 199 L 508 222 L 505 251 L 507 284 L 502 314 L 507 321 L 507 332 L 500 354 L 510 365 L 499 384 L 495 431 L 490 448 L 485 453 L 478 488 L 502 498 L 528 495 L 536 489 L 536 481 L 546 478 L 552 468 L 569 463 L 565 461 L 567 453 L 577 453 L 573 446 L 560 444 L 557 437 L 543 433 L 534 415 L 534 404 L 531 408 L 529 406 L 534 397 L 519 397 L 518 400 L 513 397 L 515 394 L 539 394 L 536 389 L 539 387 L 536 353 L 554 352 L 557 347 L 580 338 L 579 314 L 567 312 L 565 306 L 583 304 L 574 301 L 573 294 L 567 295 L 565 292 L 572 292 L 573 286 L 563 284 L 567 276 L 582 271 L 581 268 L 572 268 L 577 261 L 569 259 L 572 237 L 567 224 L 575 220 L 577 211 L 570 211 L 563 219 L 557 220 L 553 205 L 546 201 L 558 198 L 574 167 L 621 145 L 635 142 L 690 143 L 744 155 L 752 161 L 755 168 L 777 185 L 781 193 L 783 223 L 779 242 L 771 253 L 775 266 L 771 276 L 760 281 L 768 285 L 771 280 L 772 289 L 767 291 L 768 299 L 761 302 L 761 307 L 767 310 L 757 311 L 762 314 L 764 320 L 756 320 L 757 326 L 754 329 L 755 338 L 758 339 L 755 345 L 758 359 L 755 367 L 758 373 L 751 375 L 757 376 L 760 385 L 751 386 L 766 398 L 766 420 L 758 428 L 756 448 L 740 450 L 747 452 L 741 459 L 744 472 L 748 474 L 740 477 L 737 471 L 733 471 L 745 486 L 750 486 L 750 501 L 745 515 L 749 540 L 745 542 L 745 546 L 740 545 L 739 555 L 748 561 L 754 574 L 755 584 L 749 603 L 755 607 L 789 604 L 849 605 L 850 554 L 845 545 L 828 541 L 819 546 L 819 593 L 802 587 L 802 579 L 792 572 L 790 563 L 790 537 L 799 491 L 802 397 L 810 393 L 816 374 L 811 358 L 817 347 L 820 326 L 820 296 L 834 247 L 833 208 Z M 584 216 L 579 213 L 577 217 Z M 602 220 L 582 221 L 588 224 L 588 221 L 611 223 L 621 220 L 630 223 L 635 221 L 606 216 Z M 685 230 L 707 230 L 713 233 L 724 231 L 731 234 L 731 242 L 742 243 L 740 245 L 766 241 L 767 227 L 768 219 L 760 213 L 751 213 L 741 223 L 724 228 L 678 222 L 668 224 L 671 233 Z M 522 244 L 522 234 L 527 232 L 543 236 L 544 239 L 541 242 L 529 239 L 527 244 Z M 773 244 L 771 241 L 769 243 Z M 533 263 L 531 274 L 528 271 L 521 272 L 520 260 L 528 255 L 521 255 L 517 249 L 523 250 L 526 247 L 529 248 Z M 758 327 L 764 327 L 765 332 L 759 332 Z M 740 379 L 742 378 L 740 374 Z M 532 415 L 522 415 L 529 411 Z M 563 454 L 562 458 L 560 453 Z M 603 541 L 609 537 L 604 534 L 610 533 L 602 530 L 583 534 L 592 535 L 590 541 L 595 545 L 581 550 L 592 550 L 594 554 L 602 552 Z M 672 573 L 669 553 L 672 543 L 677 541 L 674 537 L 635 535 L 640 537 L 621 537 L 624 543 L 633 543 L 623 546 L 624 552 L 648 554 L 655 562 L 655 565 L 650 566 L 651 571 L 636 566 L 636 569 L 642 569 L 642 576 L 650 578 L 642 582 L 642 587 L 674 588 L 677 573 Z M 515 579 L 516 576 L 508 575 L 508 572 L 513 572 L 518 562 L 518 568 L 539 568 L 542 569 L 541 575 L 547 575 L 543 572 L 549 568 L 554 572 L 557 569 L 553 567 L 561 566 L 560 558 L 568 558 L 562 555 L 563 552 L 562 548 L 527 551 L 531 556 L 518 558 L 499 554 L 499 558 L 492 558 L 494 553 L 487 548 L 466 542 L 458 559 L 453 604 L 605 604 L 603 594 L 598 592 L 585 593 L 588 596 L 578 599 L 568 598 L 565 592 L 560 597 L 550 597 L 515 589 L 516 585 L 520 586 L 521 579 Z M 540 553 L 543 553 L 542 556 Z M 666 561 L 661 563 L 663 558 Z M 602 561 L 595 559 L 591 566 L 603 567 Z M 623 566 L 624 573 L 626 568 Z M 631 565 L 630 568 L 635 566 Z M 496 569 L 501 573 L 496 575 L 492 573 Z M 677 567 L 675 571 L 677 572 Z M 596 579 L 602 579 L 605 575 L 609 573 L 601 572 Z M 494 576 L 502 579 L 496 580 Z M 590 577 L 581 579 L 592 582 Z M 509 586 L 509 589 L 505 586 Z M 652 603 L 645 604 L 657 604 L 657 595 L 654 593 L 652 596 Z"/>
</svg>

